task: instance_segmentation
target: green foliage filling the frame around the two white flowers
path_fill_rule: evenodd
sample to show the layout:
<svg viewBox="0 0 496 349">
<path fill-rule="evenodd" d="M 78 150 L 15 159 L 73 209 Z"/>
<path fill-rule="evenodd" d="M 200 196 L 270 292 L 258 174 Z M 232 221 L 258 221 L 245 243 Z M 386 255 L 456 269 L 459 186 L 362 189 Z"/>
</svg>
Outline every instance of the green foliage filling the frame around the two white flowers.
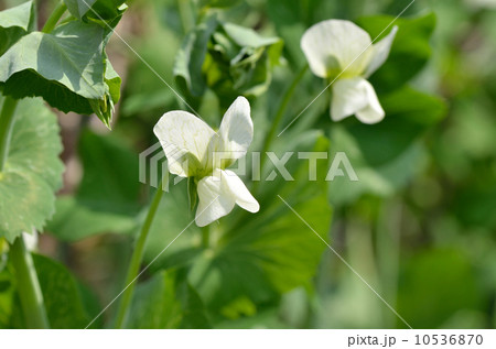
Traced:
<svg viewBox="0 0 496 349">
<path fill-rule="evenodd" d="M 106 306 L 157 193 L 139 176 L 153 126 L 179 109 L 219 124 L 241 95 L 250 151 L 291 153 L 291 179 L 261 154 L 261 181 L 241 175 L 260 211 L 205 229 L 194 181 L 165 177 L 123 327 L 407 327 L 356 273 L 414 328 L 494 327 L 496 13 L 416 1 L 396 19 L 409 2 L 64 0 L 53 30 L 39 13 L 55 2 L 0 11 L 0 108 L 18 100 L 0 171 L 0 327 L 26 327 L 8 251 L 33 231 L 51 326 L 114 326 L 122 297 Z M 368 79 L 381 122 L 330 120 L 332 88 L 300 47 L 327 19 L 376 42 L 398 26 Z M 126 43 L 110 40 L 119 21 Z M 327 155 L 314 179 L 298 156 L 310 152 Z M 326 179 L 342 152 L 359 181 Z M 152 157 L 162 165 L 162 150 Z"/>
</svg>

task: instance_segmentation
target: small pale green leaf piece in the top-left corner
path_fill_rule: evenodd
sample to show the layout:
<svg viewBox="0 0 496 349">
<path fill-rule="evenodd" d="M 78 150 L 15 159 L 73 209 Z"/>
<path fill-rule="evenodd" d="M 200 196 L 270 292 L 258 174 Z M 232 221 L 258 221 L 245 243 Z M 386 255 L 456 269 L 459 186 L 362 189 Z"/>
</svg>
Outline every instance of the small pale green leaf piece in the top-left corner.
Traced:
<svg viewBox="0 0 496 349">
<path fill-rule="evenodd" d="M 0 56 L 21 36 L 34 31 L 36 13 L 33 1 L 0 11 Z"/>
</svg>

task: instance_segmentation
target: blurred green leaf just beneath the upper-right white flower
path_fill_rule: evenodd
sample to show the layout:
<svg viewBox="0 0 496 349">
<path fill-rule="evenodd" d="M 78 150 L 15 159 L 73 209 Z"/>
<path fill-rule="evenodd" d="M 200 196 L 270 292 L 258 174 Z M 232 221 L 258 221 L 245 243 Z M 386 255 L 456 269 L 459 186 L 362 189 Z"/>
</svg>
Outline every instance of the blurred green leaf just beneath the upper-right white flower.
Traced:
<svg viewBox="0 0 496 349">
<path fill-rule="evenodd" d="M 392 195 L 418 173 L 425 152 L 421 135 L 445 114 L 438 97 L 409 87 L 381 98 L 386 118 L 377 124 L 363 124 L 349 118 L 331 130 L 332 154 L 344 152 L 358 182 L 335 177 L 328 185 L 334 205 L 352 203 L 364 194 Z"/>
</svg>

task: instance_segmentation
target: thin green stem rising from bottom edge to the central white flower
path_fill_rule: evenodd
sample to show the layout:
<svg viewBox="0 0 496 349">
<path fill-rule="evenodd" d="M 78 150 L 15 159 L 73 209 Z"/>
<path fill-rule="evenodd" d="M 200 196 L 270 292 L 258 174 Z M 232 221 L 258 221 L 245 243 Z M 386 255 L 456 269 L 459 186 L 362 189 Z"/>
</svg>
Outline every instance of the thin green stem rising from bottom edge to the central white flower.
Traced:
<svg viewBox="0 0 496 349">
<path fill-rule="evenodd" d="M 148 210 L 147 218 L 144 219 L 143 227 L 141 228 L 140 236 L 136 242 L 134 251 L 132 252 L 131 262 L 128 269 L 128 275 L 126 276 L 126 291 L 122 293 L 122 298 L 120 301 L 119 309 L 116 317 L 116 328 L 123 328 L 128 308 L 131 304 L 132 293 L 134 291 L 134 281 L 138 277 L 138 272 L 140 270 L 141 261 L 143 259 L 144 244 L 147 242 L 148 233 L 150 232 L 153 218 L 155 217 L 157 210 L 159 209 L 160 200 L 162 199 L 163 188 L 162 182 L 160 183 L 153 200 Z"/>
</svg>

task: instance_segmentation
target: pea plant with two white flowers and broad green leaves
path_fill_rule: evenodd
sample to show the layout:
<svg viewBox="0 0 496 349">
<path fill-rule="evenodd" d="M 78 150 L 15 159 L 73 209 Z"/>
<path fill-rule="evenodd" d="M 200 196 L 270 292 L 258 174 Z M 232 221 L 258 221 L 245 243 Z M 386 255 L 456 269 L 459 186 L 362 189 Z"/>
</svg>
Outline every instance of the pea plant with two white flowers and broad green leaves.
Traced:
<svg viewBox="0 0 496 349">
<path fill-rule="evenodd" d="M 316 310 L 298 304 L 312 309 L 337 277 L 323 262 L 332 221 L 421 171 L 445 112 L 412 87 L 434 14 L 315 1 L 293 25 L 292 1 L 268 14 L 255 1 L 165 2 L 163 58 L 114 35 L 145 63 L 122 79 L 107 45 L 142 2 L 63 0 L 43 23 L 34 1 L 0 12 L 0 327 L 313 327 Z M 236 20 L 239 6 L 263 14 Z M 140 91 L 151 79 L 159 92 Z M 64 195 L 57 114 L 108 129 L 82 122 L 84 174 Z M 165 166 L 138 164 L 148 146 Z M 140 184 L 142 171 L 161 181 Z M 88 286 L 66 254 L 109 232 L 119 242 L 95 249 L 114 252 L 88 263 L 115 277 Z M 36 252 L 44 235 L 65 257 Z"/>
</svg>

